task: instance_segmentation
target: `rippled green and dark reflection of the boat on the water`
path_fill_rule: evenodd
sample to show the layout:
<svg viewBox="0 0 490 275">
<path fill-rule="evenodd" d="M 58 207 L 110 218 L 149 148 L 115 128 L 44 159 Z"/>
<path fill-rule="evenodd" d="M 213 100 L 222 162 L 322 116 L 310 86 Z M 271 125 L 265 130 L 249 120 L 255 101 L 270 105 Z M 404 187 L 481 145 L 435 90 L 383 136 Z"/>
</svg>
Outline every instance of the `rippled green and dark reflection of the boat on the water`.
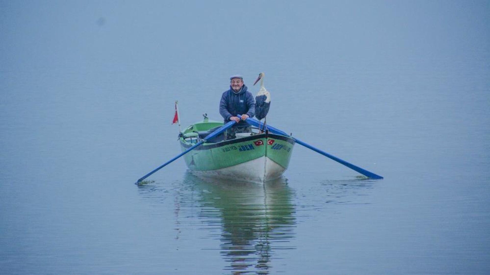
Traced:
<svg viewBox="0 0 490 275">
<path fill-rule="evenodd" d="M 294 249 L 294 193 L 285 178 L 265 184 L 200 179 L 188 175 L 188 184 L 202 190 L 200 217 L 210 226 L 221 219 L 221 254 L 235 274 L 268 274 L 275 252 Z M 218 210 L 218 211 L 217 211 Z"/>
</svg>

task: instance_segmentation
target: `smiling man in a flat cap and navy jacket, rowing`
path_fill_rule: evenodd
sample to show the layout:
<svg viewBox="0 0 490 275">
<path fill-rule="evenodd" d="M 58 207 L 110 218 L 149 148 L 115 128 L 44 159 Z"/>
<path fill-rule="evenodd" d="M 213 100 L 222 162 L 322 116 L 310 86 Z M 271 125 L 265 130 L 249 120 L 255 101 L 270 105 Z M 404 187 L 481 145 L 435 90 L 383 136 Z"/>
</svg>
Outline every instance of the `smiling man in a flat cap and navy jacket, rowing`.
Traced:
<svg viewBox="0 0 490 275">
<path fill-rule="evenodd" d="M 252 93 L 247 91 L 243 76 L 230 77 L 230 89 L 221 95 L 220 114 L 224 118 L 224 123 L 230 120 L 238 122 L 225 131 L 224 140 L 236 138 L 235 133 L 251 132 L 250 124 L 245 120 L 255 115 L 255 100 Z"/>
</svg>

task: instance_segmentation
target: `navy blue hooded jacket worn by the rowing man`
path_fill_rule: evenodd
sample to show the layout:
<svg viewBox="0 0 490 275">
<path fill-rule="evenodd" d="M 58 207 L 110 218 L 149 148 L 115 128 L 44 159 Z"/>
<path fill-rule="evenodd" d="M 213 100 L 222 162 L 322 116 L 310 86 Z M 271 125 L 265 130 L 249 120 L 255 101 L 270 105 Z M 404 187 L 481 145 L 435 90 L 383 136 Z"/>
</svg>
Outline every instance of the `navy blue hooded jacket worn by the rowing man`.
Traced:
<svg viewBox="0 0 490 275">
<path fill-rule="evenodd" d="M 242 86 L 240 92 L 235 92 L 230 86 L 228 91 L 223 92 L 220 101 L 220 114 L 224 118 L 224 123 L 230 121 L 230 117 L 237 115 L 255 115 L 255 100 L 252 93 L 247 91 L 247 87 Z M 249 126 L 246 121 L 240 120 L 237 127 Z"/>
</svg>

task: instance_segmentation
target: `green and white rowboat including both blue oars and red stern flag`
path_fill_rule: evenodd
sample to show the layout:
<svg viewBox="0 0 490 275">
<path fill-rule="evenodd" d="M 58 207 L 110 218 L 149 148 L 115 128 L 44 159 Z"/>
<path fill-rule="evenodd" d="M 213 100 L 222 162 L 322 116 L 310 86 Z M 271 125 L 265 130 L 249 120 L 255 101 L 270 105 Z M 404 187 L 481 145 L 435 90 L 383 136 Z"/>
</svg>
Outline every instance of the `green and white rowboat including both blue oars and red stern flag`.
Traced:
<svg viewBox="0 0 490 275">
<path fill-rule="evenodd" d="M 178 111 L 176 107 L 175 109 L 174 122 L 178 121 Z M 264 128 L 264 124 L 255 118 L 248 117 L 246 121 L 255 127 L 259 127 L 256 130 Z M 182 156 L 185 156 L 187 167 L 197 176 L 265 183 L 279 178 L 288 169 L 289 160 L 296 143 L 335 160 L 367 178 L 383 179 L 380 175 L 328 154 L 270 125 L 265 127 L 265 133 L 252 131 L 252 133 L 237 134 L 237 138 L 234 139 L 224 140 L 223 132 L 235 123 L 235 121 L 229 121 L 226 124 L 210 121 L 204 115 L 203 121 L 190 125 L 183 132 L 179 131 L 182 153 L 153 169 L 135 184 L 144 184 L 147 177 Z"/>
</svg>

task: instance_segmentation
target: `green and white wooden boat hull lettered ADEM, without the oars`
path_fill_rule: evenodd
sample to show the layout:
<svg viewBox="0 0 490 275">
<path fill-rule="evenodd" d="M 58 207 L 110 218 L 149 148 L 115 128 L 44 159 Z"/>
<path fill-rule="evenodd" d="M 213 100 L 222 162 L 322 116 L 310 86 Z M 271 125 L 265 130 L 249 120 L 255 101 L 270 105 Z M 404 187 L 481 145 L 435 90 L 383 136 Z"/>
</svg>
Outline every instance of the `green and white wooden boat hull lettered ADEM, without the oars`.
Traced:
<svg viewBox="0 0 490 275">
<path fill-rule="evenodd" d="M 209 120 L 194 123 L 179 136 L 182 151 L 206 137 L 223 122 Z M 237 138 L 223 140 L 224 135 L 206 140 L 184 155 L 189 169 L 196 176 L 208 176 L 245 182 L 265 183 L 279 178 L 288 168 L 293 153 L 294 139 L 277 134 L 237 134 Z"/>
</svg>

